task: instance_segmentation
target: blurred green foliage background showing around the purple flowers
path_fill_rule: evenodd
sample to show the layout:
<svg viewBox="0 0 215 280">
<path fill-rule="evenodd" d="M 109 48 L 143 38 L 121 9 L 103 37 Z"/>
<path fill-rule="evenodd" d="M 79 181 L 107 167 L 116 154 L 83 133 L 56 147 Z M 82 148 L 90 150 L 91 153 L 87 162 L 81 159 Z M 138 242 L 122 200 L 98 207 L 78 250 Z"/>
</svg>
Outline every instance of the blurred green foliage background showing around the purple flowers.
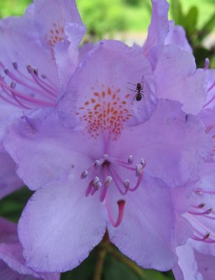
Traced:
<svg viewBox="0 0 215 280">
<path fill-rule="evenodd" d="M 45 0 L 44 0 L 45 1 Z M 170 19 L 186 29 L 197 65 L 204 65 L 205 57 L 215 66 L 215 0 L 169 0 Z M 1 0 L 0 18 L 22 15 L 30 0 Z M 87 26 L 85 41 L 119 38 L 132 45 L 142 45 L 147 36 L 151 17 L 150 0 L 77 0 L 82 20 Z M 31 191 L 23 188 L 1 200 L 0 214 L 18 221 Z M 99 272 L 99 265 L 102 269 Z M 168 280 L 172 272 L 142 269 L 128 260 L 110 242 L 94 248 L 87 260 L 61 276 L 62 280 Z"/>
</svg>

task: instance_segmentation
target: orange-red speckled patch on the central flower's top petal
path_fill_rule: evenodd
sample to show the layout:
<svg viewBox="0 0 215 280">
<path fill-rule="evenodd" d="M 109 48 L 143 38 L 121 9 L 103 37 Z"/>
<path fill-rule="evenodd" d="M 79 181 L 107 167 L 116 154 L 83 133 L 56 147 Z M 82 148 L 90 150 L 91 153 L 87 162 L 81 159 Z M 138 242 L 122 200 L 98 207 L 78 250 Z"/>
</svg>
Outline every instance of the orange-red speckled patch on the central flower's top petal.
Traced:
<svg viewBox="0 0 215 280">
<path fill-rule="evenodd" d="M 79 117 L 80 123 L 87 125 L 87 132 L 94 139 L 100 134 L 109 134 L 113 140 L 117 140 L 124 124 L 132 117 L 133 109 L 128 99 L 130 94 L 119 95 L 120 89 L 107 87 L 105 90 L 105 86 L 102 87 L 103 90 L 94 91 L 90 99 L 86 97 L 75 115 Z"/>
</svg>

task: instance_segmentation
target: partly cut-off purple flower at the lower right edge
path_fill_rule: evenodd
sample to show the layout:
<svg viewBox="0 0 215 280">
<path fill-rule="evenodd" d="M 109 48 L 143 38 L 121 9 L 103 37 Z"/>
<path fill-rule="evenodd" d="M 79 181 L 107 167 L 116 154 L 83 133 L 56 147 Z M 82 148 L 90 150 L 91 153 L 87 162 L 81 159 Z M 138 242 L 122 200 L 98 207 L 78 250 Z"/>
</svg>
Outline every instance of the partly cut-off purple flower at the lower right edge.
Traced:
<svg viewBox="0 0 215 280">
<path fill-rule="evenodd" d="M 177 248 L 179 263 L 173 269 L 176 279 L 213 279 L 215 257 L 214 162 L 206 162 L 200 180 L 173 190 L 177 230 L 190 237 Z M 186 219 L 186 220 L 185 220 Z"/>
</svg>

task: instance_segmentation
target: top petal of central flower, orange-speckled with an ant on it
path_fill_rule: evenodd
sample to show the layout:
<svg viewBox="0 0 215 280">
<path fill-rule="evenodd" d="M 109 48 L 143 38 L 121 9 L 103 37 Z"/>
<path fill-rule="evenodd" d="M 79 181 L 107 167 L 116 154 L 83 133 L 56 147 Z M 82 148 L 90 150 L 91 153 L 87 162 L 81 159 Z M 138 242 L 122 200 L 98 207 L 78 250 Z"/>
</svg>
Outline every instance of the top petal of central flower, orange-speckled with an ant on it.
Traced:
<svg viewBox="0 0 215 280">
<path fill-rule="evenodd" d="M 143 83 L 144 102 L 133 101 L 137 83 Z M 99 118 L 105 125 L 98 127 L 97 132 L 112 126 L 108 114 L 113 120 L 120 115 L 119 126 L 126 123 L 120 119 L 123 114 L 128 123 L 136 124 L 149 119 L 155 106 L 154 76 L 142 52 L 119 41 L 102 41 L 71 77 L 59 103 L 59 113 L 67 125 L 82 125 L 84 130 L 91 130 L 84 118 L 92 114 L 92 123 Z"/>
</svg>

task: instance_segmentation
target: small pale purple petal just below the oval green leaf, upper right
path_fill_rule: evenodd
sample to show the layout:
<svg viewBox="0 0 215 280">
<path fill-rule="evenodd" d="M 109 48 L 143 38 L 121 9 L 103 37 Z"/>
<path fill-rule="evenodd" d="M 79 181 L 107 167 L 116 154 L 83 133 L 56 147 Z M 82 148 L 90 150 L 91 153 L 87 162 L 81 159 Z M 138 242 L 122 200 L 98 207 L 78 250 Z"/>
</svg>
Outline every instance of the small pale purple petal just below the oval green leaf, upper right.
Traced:
<svg viewBox="0 0 215 280">
<path fill-rule="evenodd" d="M 177 45 L 181 50 L 192 53 L 191 45 L 188 43 L 184 28 L 180 25 L 174 25 L 173 21 L 169 21 L 170 31 L 165 37 L 165 45 Z"/>
</svg>

